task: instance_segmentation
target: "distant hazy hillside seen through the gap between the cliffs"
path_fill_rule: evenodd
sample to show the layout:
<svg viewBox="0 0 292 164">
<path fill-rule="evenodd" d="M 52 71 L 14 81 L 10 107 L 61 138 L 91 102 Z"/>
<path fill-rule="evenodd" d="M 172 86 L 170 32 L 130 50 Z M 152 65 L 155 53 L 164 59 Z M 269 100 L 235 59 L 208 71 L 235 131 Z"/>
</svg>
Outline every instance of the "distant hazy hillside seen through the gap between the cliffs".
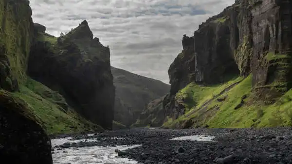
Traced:
<svg viewBox="0 0 292 164">
<path fill-rule="evenodd" d="M 116 87 L 114 120 L 126 126 L 136 122 L 147 103 L 169 92 L 170 85 L 111 67 Z"/>
</svg>

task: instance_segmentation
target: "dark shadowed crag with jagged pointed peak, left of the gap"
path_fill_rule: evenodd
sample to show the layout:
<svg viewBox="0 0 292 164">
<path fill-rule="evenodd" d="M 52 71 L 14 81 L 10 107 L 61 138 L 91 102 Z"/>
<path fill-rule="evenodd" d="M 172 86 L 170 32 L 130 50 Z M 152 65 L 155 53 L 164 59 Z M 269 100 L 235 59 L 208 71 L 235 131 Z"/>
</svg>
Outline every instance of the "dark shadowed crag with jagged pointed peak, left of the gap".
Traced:
<svg viewBox="0 0 292 164">
<path fill-rule="evenodd" d="M 110 49 L 93 38 L 86 20 L 59 38 L 38 33 L 28 73 L 58 91 L 86 119 L 111 129 L 115 87 Z"/>
</svg>

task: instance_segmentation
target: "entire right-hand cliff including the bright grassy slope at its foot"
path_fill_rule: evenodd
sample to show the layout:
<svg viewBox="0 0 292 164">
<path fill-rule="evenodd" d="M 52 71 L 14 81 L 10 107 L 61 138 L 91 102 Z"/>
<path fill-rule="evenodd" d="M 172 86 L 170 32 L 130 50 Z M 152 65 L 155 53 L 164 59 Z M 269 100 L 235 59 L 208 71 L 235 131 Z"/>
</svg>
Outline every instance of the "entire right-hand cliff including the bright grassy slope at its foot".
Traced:
<svg viewBox="0 0 292 164">
<path fill-rule="evenodd" d="M 168 70 L 164 127 L 292 124 L 291 11 L 290 0 L 236 0 L 184 35 Z"/>
</svg>

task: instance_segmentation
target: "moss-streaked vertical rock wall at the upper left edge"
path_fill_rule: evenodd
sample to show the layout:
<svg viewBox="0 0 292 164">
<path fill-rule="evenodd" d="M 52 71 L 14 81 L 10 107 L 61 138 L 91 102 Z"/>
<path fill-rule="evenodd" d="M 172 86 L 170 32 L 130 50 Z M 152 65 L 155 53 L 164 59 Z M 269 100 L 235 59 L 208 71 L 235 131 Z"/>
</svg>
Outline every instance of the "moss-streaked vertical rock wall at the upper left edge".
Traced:
<svg viewBox="0 0 292 164">
<path fill-rule="evenodd" d="M 33 38 L 32 10 L 28 3 L 0 0 L 0 87 L 9 91 L 17 91 L 18 84 L 26 77 Z"/>
</svg>

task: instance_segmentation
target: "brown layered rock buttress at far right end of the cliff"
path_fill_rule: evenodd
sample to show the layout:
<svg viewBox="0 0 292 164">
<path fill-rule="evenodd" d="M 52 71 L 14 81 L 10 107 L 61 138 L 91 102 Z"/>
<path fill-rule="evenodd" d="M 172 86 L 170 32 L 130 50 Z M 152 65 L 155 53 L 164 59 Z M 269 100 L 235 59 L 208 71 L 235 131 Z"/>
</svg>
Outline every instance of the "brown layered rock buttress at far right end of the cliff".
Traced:
<svg viewBox="0 0 292 164">
<path fill-rule="evenodd" d="M 255 0 L 251 8 L 253 84 L 259 97 L 287 92 L 292 82 L 292 1 Z"/>
</svg>

